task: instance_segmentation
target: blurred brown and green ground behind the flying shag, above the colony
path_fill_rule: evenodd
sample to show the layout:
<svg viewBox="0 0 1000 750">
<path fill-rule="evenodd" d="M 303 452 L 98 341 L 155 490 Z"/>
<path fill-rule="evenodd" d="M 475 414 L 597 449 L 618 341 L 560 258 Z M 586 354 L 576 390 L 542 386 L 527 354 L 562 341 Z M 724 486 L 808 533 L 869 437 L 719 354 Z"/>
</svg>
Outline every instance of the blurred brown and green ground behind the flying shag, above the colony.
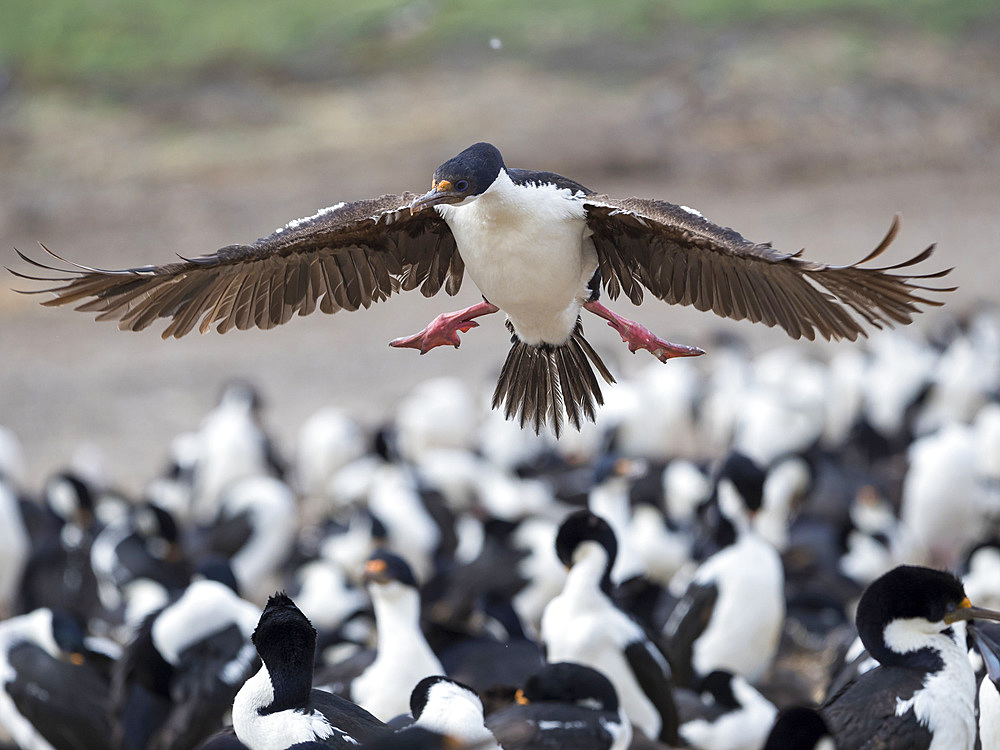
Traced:
<svg viewBox="0 0 1000 750">
<path fill-rule="evenodd" d="M 10 248 L 39 241 L 105 267 L 211 252 L 340 200 L 424 190 L 488 140 L 511 166 L 694 206 L 822 260 L 863 257 L 900 212 L 891 258 L 937 242 L 931 265 L 955 266 L 960 286 L 922 325 L 1000 301 L 994 2 L 7 0 L 0 13 L 0 244 L 15 268 Z M 457 352 L 387 347 L 474 301 L 469 284 L 168 342 L 2 286 L 0 425 L 32 482 L 93 443 L 138 487 L 232 377 L 260 386 L 290 447 L 326 404 L 375 421 L 441 374 L 488 392 L 508 341 L 491 320 Z M 787 341 L 655 301 L 636 317 L 708 356 L 717 332 Z M 616 373 L 646 363 L 585 323 Z"/>
</svg>

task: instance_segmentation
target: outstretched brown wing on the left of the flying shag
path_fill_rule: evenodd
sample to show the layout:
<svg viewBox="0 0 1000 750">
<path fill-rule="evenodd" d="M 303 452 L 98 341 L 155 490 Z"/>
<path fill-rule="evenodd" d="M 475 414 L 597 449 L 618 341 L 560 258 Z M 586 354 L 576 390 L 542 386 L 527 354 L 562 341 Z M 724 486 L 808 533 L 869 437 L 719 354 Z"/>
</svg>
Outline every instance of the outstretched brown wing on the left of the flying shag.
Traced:
<svg viewBox="0 0 1000 750">
<path fill-rule="evenodd" d="M 250 245 L 230 245 L 178 263 L 108 271 L 70 263 L 42 247 L 62 268 L 18 252 L 28 263 L 61 276 L 21 278 L 55 282 L 27 293 L 55 295 L 48 306 L 80 303 L 98 320 L 117 320 L 138 331 L 171 319 L 163 338 L 180 337 L 196 325 L 272 328 L 292 315 L 357 310 L 393 292 L 442 287 L 455 294 L 464 266 L 448 226 L 434 211 L 411 216 L 415 195 L 342 203 L 292 221 Z"/>
</svg>

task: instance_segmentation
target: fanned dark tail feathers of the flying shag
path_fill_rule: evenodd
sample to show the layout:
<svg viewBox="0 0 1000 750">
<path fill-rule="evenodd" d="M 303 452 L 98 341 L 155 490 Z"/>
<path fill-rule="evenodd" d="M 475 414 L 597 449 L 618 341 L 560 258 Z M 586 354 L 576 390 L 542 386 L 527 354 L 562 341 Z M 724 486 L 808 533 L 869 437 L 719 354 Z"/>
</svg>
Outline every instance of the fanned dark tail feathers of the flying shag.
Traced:
<svg viewBox="0 0 1000 750">
<path fill-rule="evenodd" d="M 510 321 L 507 328 L 514 333 Z M 511 340 L 514 345 L 493 392 L 494 409 L 503 404 L 507 419 L 516 415 L 521 427 L 530 424 L 536 434 L 548 422 L 556 437 L 562 431 L 563 414 L 578 430 L 581 417 L 594 421 L 597 406 L 604 403 L 594 369 L 606 383 L 614 383 L 615 379 L 583 337 L 579 318 L 573 334 L 562 346 L 532 346 L 516 334 Z"/>
</svg>

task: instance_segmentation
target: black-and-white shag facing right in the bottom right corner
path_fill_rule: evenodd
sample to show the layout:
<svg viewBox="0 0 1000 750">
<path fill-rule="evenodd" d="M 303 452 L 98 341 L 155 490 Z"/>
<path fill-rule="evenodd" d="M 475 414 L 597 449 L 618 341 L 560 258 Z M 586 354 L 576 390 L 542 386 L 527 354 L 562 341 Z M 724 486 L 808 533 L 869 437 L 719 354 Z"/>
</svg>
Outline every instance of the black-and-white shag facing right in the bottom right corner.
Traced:
<svg viewBox="0 0 1000 750">
<path fill-rule="evenodd" d="M 971 748 L 976 679 L 964 627 L 1000 612 L 973 606 L 950 573 L 903 565 L 862 594 L 858 634 L 879 666 L 820 707 L 840 750 Z"/>
</svg>

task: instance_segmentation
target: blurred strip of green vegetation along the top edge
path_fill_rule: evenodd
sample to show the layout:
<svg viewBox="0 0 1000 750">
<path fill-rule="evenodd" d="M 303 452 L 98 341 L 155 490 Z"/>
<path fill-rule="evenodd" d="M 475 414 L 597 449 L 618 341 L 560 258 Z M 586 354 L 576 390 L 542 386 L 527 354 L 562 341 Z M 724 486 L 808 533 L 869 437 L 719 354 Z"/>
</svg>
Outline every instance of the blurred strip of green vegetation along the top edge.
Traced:
<svg viewBox="0 0 1000 750">
<path fill-rule="evenodd" d="M 995 0 L 0 0 L 0 65 L 32 80 L 145 78 L 241 66 L 350 73 L 442 53 L 531 59 L 595 38 L 641 44 L 678 24 L 905 25 L 954 34 Z"/>
</svg>

